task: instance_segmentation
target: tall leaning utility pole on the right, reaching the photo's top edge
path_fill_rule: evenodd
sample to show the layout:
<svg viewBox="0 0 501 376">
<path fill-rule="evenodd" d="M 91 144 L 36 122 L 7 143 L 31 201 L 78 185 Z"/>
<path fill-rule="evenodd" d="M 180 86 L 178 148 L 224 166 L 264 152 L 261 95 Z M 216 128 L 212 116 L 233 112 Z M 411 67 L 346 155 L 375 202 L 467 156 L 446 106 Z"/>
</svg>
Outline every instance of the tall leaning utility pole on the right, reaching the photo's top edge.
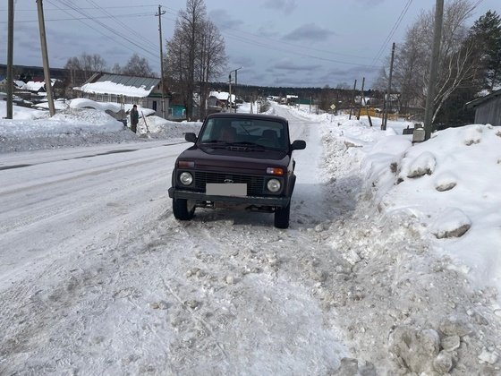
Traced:
<svg viewBox="0 0 501 376">
<path fill-rule="evenodd" d="M 426 96 L 426 108 L 424 112 L 424 139 L 431 137 L 431 125 L 433 123 L 433 102 L 435 100 L 435 85 L 437 83 L 438 58 L 440 56 L 440 39 L 442 38 L 442 21 L 444 19 L 444 0 L 435 3 L 435 30 L 433 31 L 433 49 L 429 64 L 428 92 Z"/>
</svg>

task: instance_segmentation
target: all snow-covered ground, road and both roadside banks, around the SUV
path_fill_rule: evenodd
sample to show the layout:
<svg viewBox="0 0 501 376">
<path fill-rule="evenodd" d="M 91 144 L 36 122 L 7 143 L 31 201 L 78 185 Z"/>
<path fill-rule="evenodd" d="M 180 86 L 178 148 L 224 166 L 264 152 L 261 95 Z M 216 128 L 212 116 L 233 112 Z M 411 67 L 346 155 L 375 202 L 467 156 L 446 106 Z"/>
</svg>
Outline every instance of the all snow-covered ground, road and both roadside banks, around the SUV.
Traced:
<svg viewBox="0 0 501 376">
<path fill-rule="evenodd" d="M 307 141 L 277 230 L 174 219 L 200 123 L 136 135 L 82 107 L 0 120 L 0 374 L 501 372 L 500 127 L 412 145 L 405 122 L 274 105 Z"/>
</svg>

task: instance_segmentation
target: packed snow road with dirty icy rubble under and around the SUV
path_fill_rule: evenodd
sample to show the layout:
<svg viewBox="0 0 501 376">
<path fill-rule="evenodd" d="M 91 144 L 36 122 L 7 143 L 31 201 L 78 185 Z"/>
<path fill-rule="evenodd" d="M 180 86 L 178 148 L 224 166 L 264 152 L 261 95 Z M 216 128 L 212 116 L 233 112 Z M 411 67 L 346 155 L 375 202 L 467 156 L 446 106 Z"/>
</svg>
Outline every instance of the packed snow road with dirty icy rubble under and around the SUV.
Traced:
<svg viewBox="0 0 501 376">
<path fill-rule="evenodd" d="M 430 265 L 411 222 L 378 218 L 344 142 L 276 111 L 307 141 L 287 230 L 224 209 L 176 221 L 183 142 L 5 154 L 0 374 L 398 374 L 447 364 L 438 329 L 456 374 L 496 374 L 478 358 L 497 345 L 489 297 Z"/>
</svg>

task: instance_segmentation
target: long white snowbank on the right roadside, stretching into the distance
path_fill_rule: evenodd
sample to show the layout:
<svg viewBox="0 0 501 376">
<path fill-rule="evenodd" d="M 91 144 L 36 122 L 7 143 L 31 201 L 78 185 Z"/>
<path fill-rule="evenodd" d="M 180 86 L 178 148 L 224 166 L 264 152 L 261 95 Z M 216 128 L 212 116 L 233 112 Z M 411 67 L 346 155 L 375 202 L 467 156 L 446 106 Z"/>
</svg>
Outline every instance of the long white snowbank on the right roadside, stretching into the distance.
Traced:
<svg viewBox="0 0 501 376">
<path fill-rule="evenodd" d="M 412 145 L 403 135 L 408 122 L 323 118 L 328 139 L 344 142 L 347 158 L 358 161 L 366 176 L 361 194 L 388 218 L 412 218 L 416 231 L 429 237 L 477 286 L 501 291 L 501 129 L 471 124 L 435 132 Z M 330 146 L 329 146 L 330 144 Z M 327 143 L 327 166 L 334 142 Z M 498 297 L 501 301 L 501 295 Z M 501 314 L 501 310 L 499 311 Z"/>
</svg>

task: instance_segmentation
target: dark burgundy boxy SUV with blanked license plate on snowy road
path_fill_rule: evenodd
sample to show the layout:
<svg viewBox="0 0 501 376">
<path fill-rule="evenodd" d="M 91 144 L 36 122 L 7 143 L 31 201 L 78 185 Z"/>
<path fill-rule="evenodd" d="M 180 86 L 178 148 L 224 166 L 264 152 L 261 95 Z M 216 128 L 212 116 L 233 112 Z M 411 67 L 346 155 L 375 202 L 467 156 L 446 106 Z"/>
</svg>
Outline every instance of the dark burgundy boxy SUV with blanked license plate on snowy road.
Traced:
<svg viewBox="0 0 501 376">
<path fill-rule="evenodd" d="M 296 176 L 286 119 L 274 115 L 208 115 L 194 142 L 175 161 L 172 187 L 174 217 L 193 218 L 196 208 L 230 207 L 275 213 L 275 226 L 287 228 Z"/>
</svg>

